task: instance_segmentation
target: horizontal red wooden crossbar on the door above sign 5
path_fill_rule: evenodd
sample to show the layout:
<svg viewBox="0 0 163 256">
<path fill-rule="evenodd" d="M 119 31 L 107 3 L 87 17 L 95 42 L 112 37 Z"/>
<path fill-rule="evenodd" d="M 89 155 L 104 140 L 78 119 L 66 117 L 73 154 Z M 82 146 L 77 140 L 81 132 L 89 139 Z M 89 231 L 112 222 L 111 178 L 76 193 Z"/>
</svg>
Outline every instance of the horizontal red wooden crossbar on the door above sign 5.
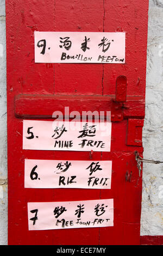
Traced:
<svg viewBox="0 0 163 256">
<path fill-rule="evenodd" d="M 71 103 L 71 104 L 70 104 Z M 39 108 L 35 106 L 39 105 Z M 69 113 L 78 111 L 106 111 L 111 109 L 112 114 L 119 113 L 115 96 L 66 96 L 66 95 L 16 95 L 15 115 L 18 118 L 51 118 L 54 111 L 65 113 L 65 106 Z M 127 102 L 120 104 L 122 120 L 128 118 L 145 118 L 145 100 L 143 97 L 127 97 Z"/>
</svg>

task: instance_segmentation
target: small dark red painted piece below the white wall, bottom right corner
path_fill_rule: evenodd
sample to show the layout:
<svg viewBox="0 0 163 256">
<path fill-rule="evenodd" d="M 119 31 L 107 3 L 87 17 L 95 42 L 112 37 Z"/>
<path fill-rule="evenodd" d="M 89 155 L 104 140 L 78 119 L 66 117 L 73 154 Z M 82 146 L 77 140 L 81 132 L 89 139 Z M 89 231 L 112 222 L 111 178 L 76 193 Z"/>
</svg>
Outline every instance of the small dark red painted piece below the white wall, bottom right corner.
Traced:
<svg viewBox="0 0 163 256">
<path fill-rule="evenodd" d="M 163 245 L 163 235 L 140 236 L 141 245 Z"/>
</svg>

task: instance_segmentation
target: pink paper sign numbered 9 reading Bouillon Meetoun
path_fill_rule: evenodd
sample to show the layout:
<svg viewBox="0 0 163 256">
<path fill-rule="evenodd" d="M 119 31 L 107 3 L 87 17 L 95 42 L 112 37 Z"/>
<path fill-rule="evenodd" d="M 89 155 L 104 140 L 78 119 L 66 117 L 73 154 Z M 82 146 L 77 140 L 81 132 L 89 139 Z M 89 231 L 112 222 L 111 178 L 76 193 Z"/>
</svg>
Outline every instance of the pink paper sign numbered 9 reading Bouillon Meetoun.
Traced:
<svg viewBox="0 0 163 256">
<path fill-rule="evenodd" d="M 35 62 L 124 64 L 125 33 L 35 31 Z"/>
</svg>

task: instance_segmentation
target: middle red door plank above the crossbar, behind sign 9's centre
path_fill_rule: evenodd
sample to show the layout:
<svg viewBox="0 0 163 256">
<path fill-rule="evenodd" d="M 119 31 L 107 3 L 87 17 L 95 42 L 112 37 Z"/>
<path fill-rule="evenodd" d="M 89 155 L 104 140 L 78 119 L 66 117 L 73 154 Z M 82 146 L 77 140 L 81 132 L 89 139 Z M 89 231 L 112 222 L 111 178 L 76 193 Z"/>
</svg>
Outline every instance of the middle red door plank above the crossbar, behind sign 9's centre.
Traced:
<svg viewBox="0 0 163 256">
<path fill-rule="evenodd" d="M 103 0 L 55 1 L 55 31 L 102 32 Z M 103 66 L 56 64 L 55 94 L 102 95 Z"/>
</svg>

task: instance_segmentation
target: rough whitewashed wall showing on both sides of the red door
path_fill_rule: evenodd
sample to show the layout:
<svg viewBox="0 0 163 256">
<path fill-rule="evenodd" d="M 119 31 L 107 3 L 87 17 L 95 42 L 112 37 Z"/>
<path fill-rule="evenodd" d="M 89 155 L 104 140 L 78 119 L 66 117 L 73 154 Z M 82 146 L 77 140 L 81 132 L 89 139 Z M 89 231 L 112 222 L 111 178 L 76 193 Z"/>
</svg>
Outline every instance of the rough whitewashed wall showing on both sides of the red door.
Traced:
<svg viewBox="0 0 163 256">
<path fill-rule="evenodd" d="M 163 161 L 163 0 L 149 0 L 144 157 Z M 0 245 L 7 244 L 5 0 L 0 0 Z M 162 48 L 161 48 L 162 47 Z M 163 235 L 163 164 L 143 165 L 141 235 Z M 162 186 L 162 187 L 161 187 Z"/>
</svg>

